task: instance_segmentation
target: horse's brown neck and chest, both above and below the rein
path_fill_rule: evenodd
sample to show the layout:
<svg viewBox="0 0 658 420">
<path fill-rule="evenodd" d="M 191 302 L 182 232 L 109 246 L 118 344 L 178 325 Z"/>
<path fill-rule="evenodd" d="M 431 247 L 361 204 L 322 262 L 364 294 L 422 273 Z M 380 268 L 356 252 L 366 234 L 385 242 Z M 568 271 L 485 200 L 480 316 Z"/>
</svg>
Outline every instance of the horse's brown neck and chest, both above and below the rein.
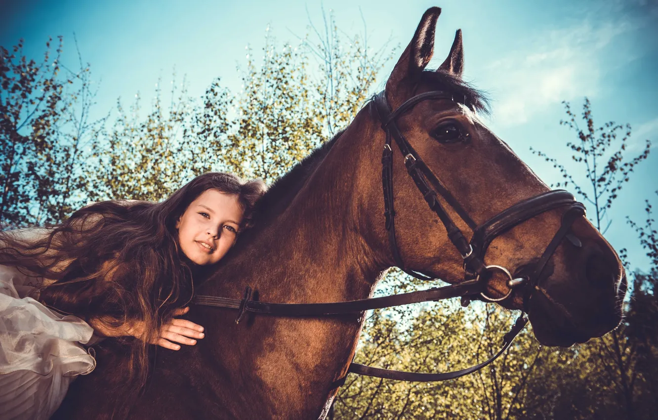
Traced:
<svg viewBox="0 0 658 420">
<path fill-rule="evenodd" d="M 367 133 L 348 130 L 343 136 L 286 210 L 245 243 L 201 294 L 235 298 L 248 285 L 261 301 L 294 303 L 354 300 L 372 292 L 381 268 L 363 237 L 369 228 L 364 201 L 372 201 L 363 192 L 378 188 L 377 171 L 359 162 L 359 153 L 370 153 L 357 141 Z M 372 180 L 358 171 L 370 172 Z M 226 326 L 228 319 L 217 321 Z M 245 417 L 276 412 L 276 418 L 310 418 L 319 414 L 315 411 L 334 389 L 332 382 L 351 361 L 362 323 L 361 314 L 259 316 L 222 327 L 212 357 L 222 360 L 222 375 L 232 386 L 240 384 L 241 394 L 258 400 L 236 408 L 247 410 Z M 252 407 L 265 411 L 249 411 Z"/>
</svg>

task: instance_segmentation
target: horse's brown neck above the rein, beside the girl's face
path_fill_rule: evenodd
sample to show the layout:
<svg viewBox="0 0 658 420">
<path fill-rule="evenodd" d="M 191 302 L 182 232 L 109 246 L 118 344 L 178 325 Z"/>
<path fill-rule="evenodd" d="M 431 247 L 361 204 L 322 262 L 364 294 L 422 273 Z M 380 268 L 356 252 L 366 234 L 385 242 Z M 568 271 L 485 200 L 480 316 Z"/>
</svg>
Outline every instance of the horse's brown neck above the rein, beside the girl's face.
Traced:
<svg viewBox="0 0 658 420">
<path fill-rule="evenodd" d="M 359 148 L 353 139 L 359 132 L 347 139 L 350 131 L 357 130 L 343 134 L 290 205 L 215 276 L 231 278 L 230 284 L 211 280 L 213 289 L 251 286 L 270 302 L 332 302 L 370 293 L 381 267 L 362 236 L 359 165 L 345 163 L 357 159 L 353 149 Z"/>
</svg>

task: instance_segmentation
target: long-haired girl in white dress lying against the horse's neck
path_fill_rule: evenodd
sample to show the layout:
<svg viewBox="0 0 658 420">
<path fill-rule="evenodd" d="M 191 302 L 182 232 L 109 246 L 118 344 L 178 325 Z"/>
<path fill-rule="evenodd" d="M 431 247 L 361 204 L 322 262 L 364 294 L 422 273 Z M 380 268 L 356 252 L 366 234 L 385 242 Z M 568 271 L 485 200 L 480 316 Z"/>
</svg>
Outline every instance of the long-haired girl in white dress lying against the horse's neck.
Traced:
<svg viewBox="0 0 658 420">
<path fill-rule="evenodd" d="M 192 278 L 249 227 L 265 191 L 211 172 L 161 203 L 103 201 L 54 228 L 0 232 L 0 418 L 47 419 L 76 375 L 95 367 L 81 344 L 130 346 L 143 384 L 149 344 L 179 350 L 203 327 L 189 310 Z M 95 334 L 94 334 L 95 333 Z"/>
</svg>

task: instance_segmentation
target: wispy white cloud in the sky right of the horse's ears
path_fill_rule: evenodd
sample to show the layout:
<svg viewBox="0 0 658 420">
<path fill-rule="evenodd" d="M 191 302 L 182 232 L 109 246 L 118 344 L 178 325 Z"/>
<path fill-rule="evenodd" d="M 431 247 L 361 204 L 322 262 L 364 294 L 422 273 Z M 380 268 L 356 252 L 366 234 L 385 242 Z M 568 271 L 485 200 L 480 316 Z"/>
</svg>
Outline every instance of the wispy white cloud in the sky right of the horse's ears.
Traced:
<svg viewBox="0 0 658 420">
<path fill-rule="evenodd" d="M 632 59 L 607 48 L 620 34 L 634 30 L 629 20 L 576 26 L 538 33 L 522 49 L 511 51 L 487 68 L 489 86 L 496 86 L 493 117 L 504 126 L 527 122 L 549 105 L 583 96 L 594 97 L 601 69 Z M 614 57 L 611 57 L 614 54 Z"/>
</svg>

